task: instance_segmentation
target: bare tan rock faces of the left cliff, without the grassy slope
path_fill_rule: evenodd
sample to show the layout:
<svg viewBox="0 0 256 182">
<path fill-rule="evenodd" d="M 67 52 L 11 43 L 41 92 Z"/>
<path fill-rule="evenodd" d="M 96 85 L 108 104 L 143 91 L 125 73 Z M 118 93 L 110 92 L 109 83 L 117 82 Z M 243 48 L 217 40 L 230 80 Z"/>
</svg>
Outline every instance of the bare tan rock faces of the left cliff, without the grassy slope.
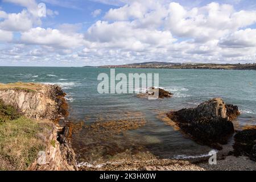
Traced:
<svg viewBox="0 0 256 182">
<path fill-rule="evenodd" d="M 67 116 L 68 105 L 64 96 L 65 93 L 57 85 L 22 82 L 0 84 L 0 100 L 32 119 L 59 121 L 61 117 Z M 43 139 L 46 150 L 41 151 L 41 155 L 28 169 L 61 171 L 77 169 L 76 155 L 69 138 L 72 134 L 69 126 L 60 127 L 56 122 L 49 123 L 48 134 L 38 136 Z"/>
</svg>

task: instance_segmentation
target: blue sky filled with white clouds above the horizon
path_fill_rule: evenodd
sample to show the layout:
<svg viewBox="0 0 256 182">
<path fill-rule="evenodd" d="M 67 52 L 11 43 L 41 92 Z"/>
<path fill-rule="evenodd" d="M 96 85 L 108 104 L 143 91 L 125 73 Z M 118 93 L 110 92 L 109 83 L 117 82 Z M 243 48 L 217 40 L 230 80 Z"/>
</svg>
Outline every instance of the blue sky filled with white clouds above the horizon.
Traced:
<svg viewBox="0 0 256 182">
<path fill-rule="evenodd" d="M 254 0 L 0 0 L 0 66 L 255 63 Z"/>
</svg>

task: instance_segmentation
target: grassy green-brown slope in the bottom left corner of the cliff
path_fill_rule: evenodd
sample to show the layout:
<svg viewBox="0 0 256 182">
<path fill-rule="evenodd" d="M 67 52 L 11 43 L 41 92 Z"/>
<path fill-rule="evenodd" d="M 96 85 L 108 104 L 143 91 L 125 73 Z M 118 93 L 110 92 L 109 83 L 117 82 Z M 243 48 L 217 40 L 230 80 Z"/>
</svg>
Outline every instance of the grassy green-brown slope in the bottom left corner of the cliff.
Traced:
<svg viewBox="0 0 256 182">
<path fill-rule="evenodd" d="M 35 121 L 16 112 L 0 101 L 0 170 L 26 170 L 38 152 L 46 149 L 51 133 L 51 122 Z M 11 113 L 15 117 L 10 117 Z"/>
</svg>

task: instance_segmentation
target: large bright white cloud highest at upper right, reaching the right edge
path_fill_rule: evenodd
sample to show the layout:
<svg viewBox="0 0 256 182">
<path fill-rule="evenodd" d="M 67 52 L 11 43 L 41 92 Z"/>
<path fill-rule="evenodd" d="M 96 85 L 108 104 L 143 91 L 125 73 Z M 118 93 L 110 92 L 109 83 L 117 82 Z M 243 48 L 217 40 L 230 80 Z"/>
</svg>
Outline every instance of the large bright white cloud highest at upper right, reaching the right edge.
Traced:
<svg viewBox="0 0 256 182">
<path fill-rule="evenodd" d="M 170 3 L 166 28 L 174 35 L 200 42 L 222 36 L 256 22 L 256 11 L 236 12 L 231 5 L 210 3 L 189 11 L 178 3 Z"/>
</svg>

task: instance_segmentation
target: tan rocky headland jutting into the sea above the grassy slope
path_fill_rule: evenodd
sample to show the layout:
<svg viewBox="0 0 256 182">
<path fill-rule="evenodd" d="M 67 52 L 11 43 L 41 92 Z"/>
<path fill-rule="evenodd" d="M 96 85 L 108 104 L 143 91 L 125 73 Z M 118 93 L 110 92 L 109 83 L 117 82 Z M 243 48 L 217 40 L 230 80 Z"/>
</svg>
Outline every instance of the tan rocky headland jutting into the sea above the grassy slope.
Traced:
<svg viewBox="0 0 256 182">
<path fill-rule="evenodd" d="M 33 86 L 37 89 L 0 89 L 0 99 L 33 119 L 57 120 L 68 114 L 65 93 L 59 86 L 44 84 Z"/>
</svg>

